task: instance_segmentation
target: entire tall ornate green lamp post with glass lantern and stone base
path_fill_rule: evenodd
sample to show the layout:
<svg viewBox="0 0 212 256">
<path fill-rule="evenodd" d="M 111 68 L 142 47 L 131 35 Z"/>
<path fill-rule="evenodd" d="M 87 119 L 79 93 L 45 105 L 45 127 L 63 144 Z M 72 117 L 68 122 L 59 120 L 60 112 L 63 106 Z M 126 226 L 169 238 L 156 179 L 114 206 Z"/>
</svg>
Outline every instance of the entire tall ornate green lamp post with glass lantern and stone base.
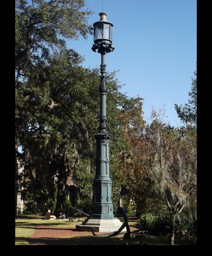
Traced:
<svg viewBox="0 0 212 256">
<path fill-rule="evenodd" d="M 100 124 L 99 133 L 94 135 L 96 139 L 96 174 L 93 180 L 91 215 L 83 221 L 82 225 L 76 225 L 76 230 L 91 231 L 91 227 L 94 226 L 96 232 L 104 232 L 117 231 L 122 223 L 113 214 L 112 181 L 109 171 L 109 139 L 112 135 L 108 134 L 106 125 L 105 54 L 115 49 L 112 45 L 113 23 L 106 20 L 107 13 L 101 12 L 99 16 L 100 20 L 93 24 L 94 44 L 92 46 L 93 51 L 98 50 L 98 53 L 101 53 Z"/>
</svg>

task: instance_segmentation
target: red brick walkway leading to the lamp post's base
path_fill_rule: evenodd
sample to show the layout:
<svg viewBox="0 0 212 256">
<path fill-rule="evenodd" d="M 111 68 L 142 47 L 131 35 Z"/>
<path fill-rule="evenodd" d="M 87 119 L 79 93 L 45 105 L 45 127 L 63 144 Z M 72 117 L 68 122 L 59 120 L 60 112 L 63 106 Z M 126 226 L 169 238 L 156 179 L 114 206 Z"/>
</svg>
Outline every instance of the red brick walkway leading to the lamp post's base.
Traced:
<svg viewBox="0 0 212 256">
<path fill-rule="evenodd" d="M 136 230 L 130 227 L 130 230 Z M 105 232 L 98 233 L 104 234 Z M 29 245 L 58 245 L 58 237 L 61 236 L 93 236 L 92 232 L 79 232 L 75 227 L 58 228 L 51 226 L 37 225 Z"/>
</svg>

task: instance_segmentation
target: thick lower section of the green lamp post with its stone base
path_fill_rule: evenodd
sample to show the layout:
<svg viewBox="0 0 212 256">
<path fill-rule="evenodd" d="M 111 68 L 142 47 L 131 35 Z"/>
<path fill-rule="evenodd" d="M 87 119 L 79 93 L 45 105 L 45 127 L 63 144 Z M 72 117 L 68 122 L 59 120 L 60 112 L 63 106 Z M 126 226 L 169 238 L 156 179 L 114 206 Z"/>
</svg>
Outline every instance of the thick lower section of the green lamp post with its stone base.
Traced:
<svg viewBox="0 0 212 256">
<path fill-rule="evenodd" d="M 96 176 L 93 181 L 91 215 L 83 221 L 82 225 L 76 225 L 76 230 L 92 232 L 91 227 L 95 227 L 95 232 L 114 232 L 121 227 L 122 223 L 113 214 L 112 181 L 109 176 L 111 135 L 98 133 L 94 136 L 96 138 Z M 126 228 L 123 231 L 126 231 Z"/>
</svg>

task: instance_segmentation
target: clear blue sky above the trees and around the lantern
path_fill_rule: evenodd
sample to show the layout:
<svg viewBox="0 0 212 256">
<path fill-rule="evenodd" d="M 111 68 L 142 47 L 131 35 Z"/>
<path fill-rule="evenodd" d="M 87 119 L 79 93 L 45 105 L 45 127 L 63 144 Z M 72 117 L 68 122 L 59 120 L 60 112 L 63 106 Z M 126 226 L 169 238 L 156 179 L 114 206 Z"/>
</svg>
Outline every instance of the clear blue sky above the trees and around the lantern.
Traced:
<svg viewBox="0 0 212 256">
<path fill-rule="evenodd" d="M 102 0 L 87 0 L 95 11 L 89 24 L 99 21 Z M 191 77 L 197 60 L 196 0 L 104 0 L 107 20 L 112 22 L 115 50 L 107 53 L 107 71 L 119 70 L 117 78 L 125 84 L 121 92 L 144 98 L 144 117 L 152 106 L 165 109 L 165 121 L 180 126 L 174 109 L 188 102 Z M 85 56 L 83 66 L 99 67 L 101 55 L 91 50 L 88 40 L 68 41 L 68 48 Z"/>
</svg>

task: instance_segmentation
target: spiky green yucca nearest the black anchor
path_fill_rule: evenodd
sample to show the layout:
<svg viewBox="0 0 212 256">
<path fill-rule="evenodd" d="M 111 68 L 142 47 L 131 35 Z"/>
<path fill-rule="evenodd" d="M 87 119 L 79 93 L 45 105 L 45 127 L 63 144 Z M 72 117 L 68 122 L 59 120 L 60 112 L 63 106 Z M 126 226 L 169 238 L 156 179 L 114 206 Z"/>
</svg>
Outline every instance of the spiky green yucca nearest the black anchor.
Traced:
<svg viewBox="0 0 212 256">
<path fill-rule="evenodd" d="M 136 228 L 139 228 L 141 233 L 153 234 L 159 222 L 159 217 L 151 212 L 141 214 L 136 222 Z"/>
</svg>

